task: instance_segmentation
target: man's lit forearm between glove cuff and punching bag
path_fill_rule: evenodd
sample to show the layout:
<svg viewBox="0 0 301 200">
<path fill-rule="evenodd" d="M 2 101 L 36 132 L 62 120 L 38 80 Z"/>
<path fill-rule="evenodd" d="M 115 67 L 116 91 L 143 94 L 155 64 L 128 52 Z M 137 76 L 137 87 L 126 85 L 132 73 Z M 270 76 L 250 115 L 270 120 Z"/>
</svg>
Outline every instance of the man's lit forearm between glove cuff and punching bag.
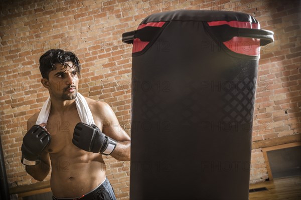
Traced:
<svg viewBox="0 0 301 200">
<path fill-rule="evenodd" d="M 111 155 L 120 161 L 130 160 L 130 141 L 117 141 L 116 148 Z"/>
</svg>

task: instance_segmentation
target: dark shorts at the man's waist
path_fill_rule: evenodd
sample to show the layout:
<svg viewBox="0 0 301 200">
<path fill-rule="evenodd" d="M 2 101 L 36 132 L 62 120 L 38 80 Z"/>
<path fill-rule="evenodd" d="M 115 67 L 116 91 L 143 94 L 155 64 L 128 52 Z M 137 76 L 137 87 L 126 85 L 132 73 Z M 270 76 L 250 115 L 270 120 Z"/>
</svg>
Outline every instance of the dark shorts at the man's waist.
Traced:
<svg viewBox="0 0 301 200">
<path fill-rule="evenodd" d="M 111 183 L 109 182 L 109 180 L 106 178 L 105 181 L 100 184 L 98 187 L 96 187 L 95 189 L 93 189 L 92 191 L 79 196 L 79 197 L 75 197 L 75 198 L 57 198 L 55 196 L 52 196 L 53 200 L 65 200 L 65 199 L 69 199 L 69 200 L 116 200 L 116 196 L 113 190 L 113 187 L 111 185 Z"/>
</svg>

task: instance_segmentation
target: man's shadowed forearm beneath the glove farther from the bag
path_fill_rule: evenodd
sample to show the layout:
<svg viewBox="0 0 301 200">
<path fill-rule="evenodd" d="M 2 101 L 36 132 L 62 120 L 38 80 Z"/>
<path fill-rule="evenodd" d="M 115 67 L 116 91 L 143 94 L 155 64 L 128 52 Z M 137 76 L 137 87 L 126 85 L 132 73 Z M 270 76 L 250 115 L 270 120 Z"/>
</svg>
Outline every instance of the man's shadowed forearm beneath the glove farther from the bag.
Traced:
<svg viewBox="0 0 301 200">
<path fill-rule="evenodd" d="M 43 181 L 50 171 L 50 166 L 41 160 L 39 164 L 32 166 L 27 165 L 25 169 L 31 176 L 33 176 L 33 178 Z"/>
</svg>

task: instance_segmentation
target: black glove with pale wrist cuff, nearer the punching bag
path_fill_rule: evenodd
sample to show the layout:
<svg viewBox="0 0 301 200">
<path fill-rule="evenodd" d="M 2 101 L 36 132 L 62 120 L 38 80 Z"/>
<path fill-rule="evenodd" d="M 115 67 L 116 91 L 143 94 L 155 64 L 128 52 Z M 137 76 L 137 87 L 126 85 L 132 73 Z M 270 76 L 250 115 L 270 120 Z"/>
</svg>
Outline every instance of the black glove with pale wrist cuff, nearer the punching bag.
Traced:
<svg viewBox="0 0 301 200">
<path fill-rule="evenodd" d="M 92 124 L 82 122 L 76 124 L 72 142 L 77 147 L 94 153 L 111 154 L 116 147 L 116 140 L 105 135 L 100 129 Z"/>
</svg>

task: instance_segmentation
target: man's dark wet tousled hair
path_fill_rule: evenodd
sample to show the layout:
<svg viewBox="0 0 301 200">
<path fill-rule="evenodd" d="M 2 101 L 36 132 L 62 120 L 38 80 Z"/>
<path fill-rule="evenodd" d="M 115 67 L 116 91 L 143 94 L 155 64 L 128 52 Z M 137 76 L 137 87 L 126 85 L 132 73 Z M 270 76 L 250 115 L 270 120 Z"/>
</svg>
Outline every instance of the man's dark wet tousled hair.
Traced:
<svg viewBox="0 0 301 200">
<path fill-rule="evenodd" d="M 71 51 L 64 51 L 62 49 L 50 49 L 46 51 L 40 57 L 40 71 L 43 78 L 49 78 L 49 72 L 56 69 L 55 64 L 59 63 L 65 66 L 67 69 L 68 64 L 66 62 L 73 62 L 73 66 L 77 72 L 80 74 L 80 62 L 77 56 Z"/>
</svg>

